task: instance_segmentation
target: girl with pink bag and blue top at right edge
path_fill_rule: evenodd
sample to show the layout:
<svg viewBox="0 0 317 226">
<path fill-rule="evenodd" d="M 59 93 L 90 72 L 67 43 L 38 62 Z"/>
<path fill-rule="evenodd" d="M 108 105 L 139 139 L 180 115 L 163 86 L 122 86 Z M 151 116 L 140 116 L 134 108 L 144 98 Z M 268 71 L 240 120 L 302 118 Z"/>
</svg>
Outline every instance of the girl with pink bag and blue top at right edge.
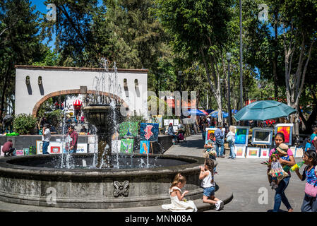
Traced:
<svg viewBox="0 0 317 226">
<path fill-rule="evenodd" d="M 303 157 L 304 163 L 307 165 L 301 175 L 299 169 L 295 172 L 299 179 L 304 181 L 306 179 L 305 196 L 303 204 L 301 205 L 301 212 L 317 212 L 317 153 L 315 150 L 307 150 Z"/>
</svg>

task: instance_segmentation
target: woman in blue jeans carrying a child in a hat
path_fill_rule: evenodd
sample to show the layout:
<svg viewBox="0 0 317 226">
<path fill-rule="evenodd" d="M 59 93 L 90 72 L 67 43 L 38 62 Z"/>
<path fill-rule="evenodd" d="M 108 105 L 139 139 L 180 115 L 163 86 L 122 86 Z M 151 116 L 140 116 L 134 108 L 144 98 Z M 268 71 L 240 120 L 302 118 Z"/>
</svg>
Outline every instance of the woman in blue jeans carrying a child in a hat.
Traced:
<svg viewBox="0 0 317 226">
<path fill-rule="evenodd" d="M 285 136 L 283 133 L 276 133 L 275 138 L 275 145 L 276 147 L 270 150 L 270 155 L 272 155 L 275 152 L 275 149 L 280 145 L 281 143 L 285 142 Z M 286 157 L 280 157 L 279 159 L 281 165 L 288 165 L 289 167 L 292 167 L 296 164 L 294 155 L 292 153 L 292 150 L 287 150 L 287 156 Z M 270 167 L 268 167 L 268 172 L 270 172 Z M 293 212 L 292 206 L 289 204 L 289 201 L 287 197 L 285 196 L 285 189 L 287 188 L 289 184 L 289 179 L 291 178 L 291 174 L 288 171 L 289 177 L 285 177 L 280 181 L 277 188 L 275 189 L 275 197 L 274 197 L 274 208 L 273 212 L 278 212 L 280 210 L 281 202 L 284 203 L 286 206 L 288 212 Z M 271 183 L 272 179 L 268 175 L 268 182 Z"/>
</svg>

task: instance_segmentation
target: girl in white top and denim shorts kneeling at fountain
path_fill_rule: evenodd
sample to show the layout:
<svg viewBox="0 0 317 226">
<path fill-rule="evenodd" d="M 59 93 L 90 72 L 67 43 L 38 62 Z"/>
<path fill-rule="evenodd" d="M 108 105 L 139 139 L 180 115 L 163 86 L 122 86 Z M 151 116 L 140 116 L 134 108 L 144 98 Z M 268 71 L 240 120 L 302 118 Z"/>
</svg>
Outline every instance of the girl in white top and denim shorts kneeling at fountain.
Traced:
<svg viewBox="0 0 317 226">
<path fill-rule="evenodd" d="M 215 198 L 215 180 L 213 178 L 213 160 L 206 159 L 205 165 L 201 166 L 201 174 L 199 179 L 202 179 L 201 186 L 203 187 L 203 202 L 215 204 L 216 210 L 221 210 L 224 207 L 223 201 Z M 210 199 L 208 199 L 210 198 Z"/>
</svg>

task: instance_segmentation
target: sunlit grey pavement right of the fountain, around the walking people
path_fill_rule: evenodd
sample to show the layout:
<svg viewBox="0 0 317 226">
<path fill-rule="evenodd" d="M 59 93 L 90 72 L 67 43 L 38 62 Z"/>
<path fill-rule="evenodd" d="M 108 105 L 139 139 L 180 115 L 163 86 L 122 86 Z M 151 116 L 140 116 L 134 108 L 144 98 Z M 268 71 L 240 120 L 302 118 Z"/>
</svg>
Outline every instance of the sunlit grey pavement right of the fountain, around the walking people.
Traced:
<svg viewBox="0 0 317 226">
<path fill-rule="evenodd" d="M 203 140 L 201 133 L 186 139 L 187 143 L 174 145 L 165 154 L 202 156 Z M 261 165 L 261 162 L 265 159 L 236 158 L 232 160 L 228 157 L 229 150 L 226 151 L 226 158 L 217 158 L 217 172 L 219 172 L 219 175 L 215 175 L 215 182 L 226 186 L 227 189 L 229 188 L 233 192 L 232 201 L 227 203 L 222 211 L 266 212 L 272 210 L 275 190 L 272 190 L 268 184 L 265 165 Z M 296 162 L 300 160 L 299 157 L 295 158 Z M 297 175 L 292 172 L 285 194 L 294 208 L 294 212 L 300 211 L 304 198 L 304 187 L 305 182 L 301 182 Z M 265 191 L 268 194 L 267 202 L 265 198 L 262 198 Z M 287 210 L 284 204 L 281 205 L 281 210 Z"/>
</svg>

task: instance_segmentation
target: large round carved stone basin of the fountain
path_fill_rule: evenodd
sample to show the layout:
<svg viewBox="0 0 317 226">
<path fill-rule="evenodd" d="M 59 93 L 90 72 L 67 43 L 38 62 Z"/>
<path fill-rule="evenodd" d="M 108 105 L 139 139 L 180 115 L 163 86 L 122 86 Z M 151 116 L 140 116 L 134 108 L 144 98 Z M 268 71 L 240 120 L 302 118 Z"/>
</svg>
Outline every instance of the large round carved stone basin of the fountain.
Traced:
<svg viewBox="0 0 317 226">
<path fill-rule="evenodd" d="M 83 160 L 92 155 L 75 154 L 73 157 Z M 1 159 L 0 201 L 60 208 L 157 206 L 170 203 L 168 189 L 178 172 L 187 179 L 184 187 L 189 190 L 187 199 L 201 198 L 203 194 L 198 179 L 199 166 L 204 163 L 202 157 L 150 155 L 150 158 L 156 157 L 166 164 L 145 169 L 56 169 L 41 166 L 43 162 L 54 161 L 56 156 Z"/>
</svg>

